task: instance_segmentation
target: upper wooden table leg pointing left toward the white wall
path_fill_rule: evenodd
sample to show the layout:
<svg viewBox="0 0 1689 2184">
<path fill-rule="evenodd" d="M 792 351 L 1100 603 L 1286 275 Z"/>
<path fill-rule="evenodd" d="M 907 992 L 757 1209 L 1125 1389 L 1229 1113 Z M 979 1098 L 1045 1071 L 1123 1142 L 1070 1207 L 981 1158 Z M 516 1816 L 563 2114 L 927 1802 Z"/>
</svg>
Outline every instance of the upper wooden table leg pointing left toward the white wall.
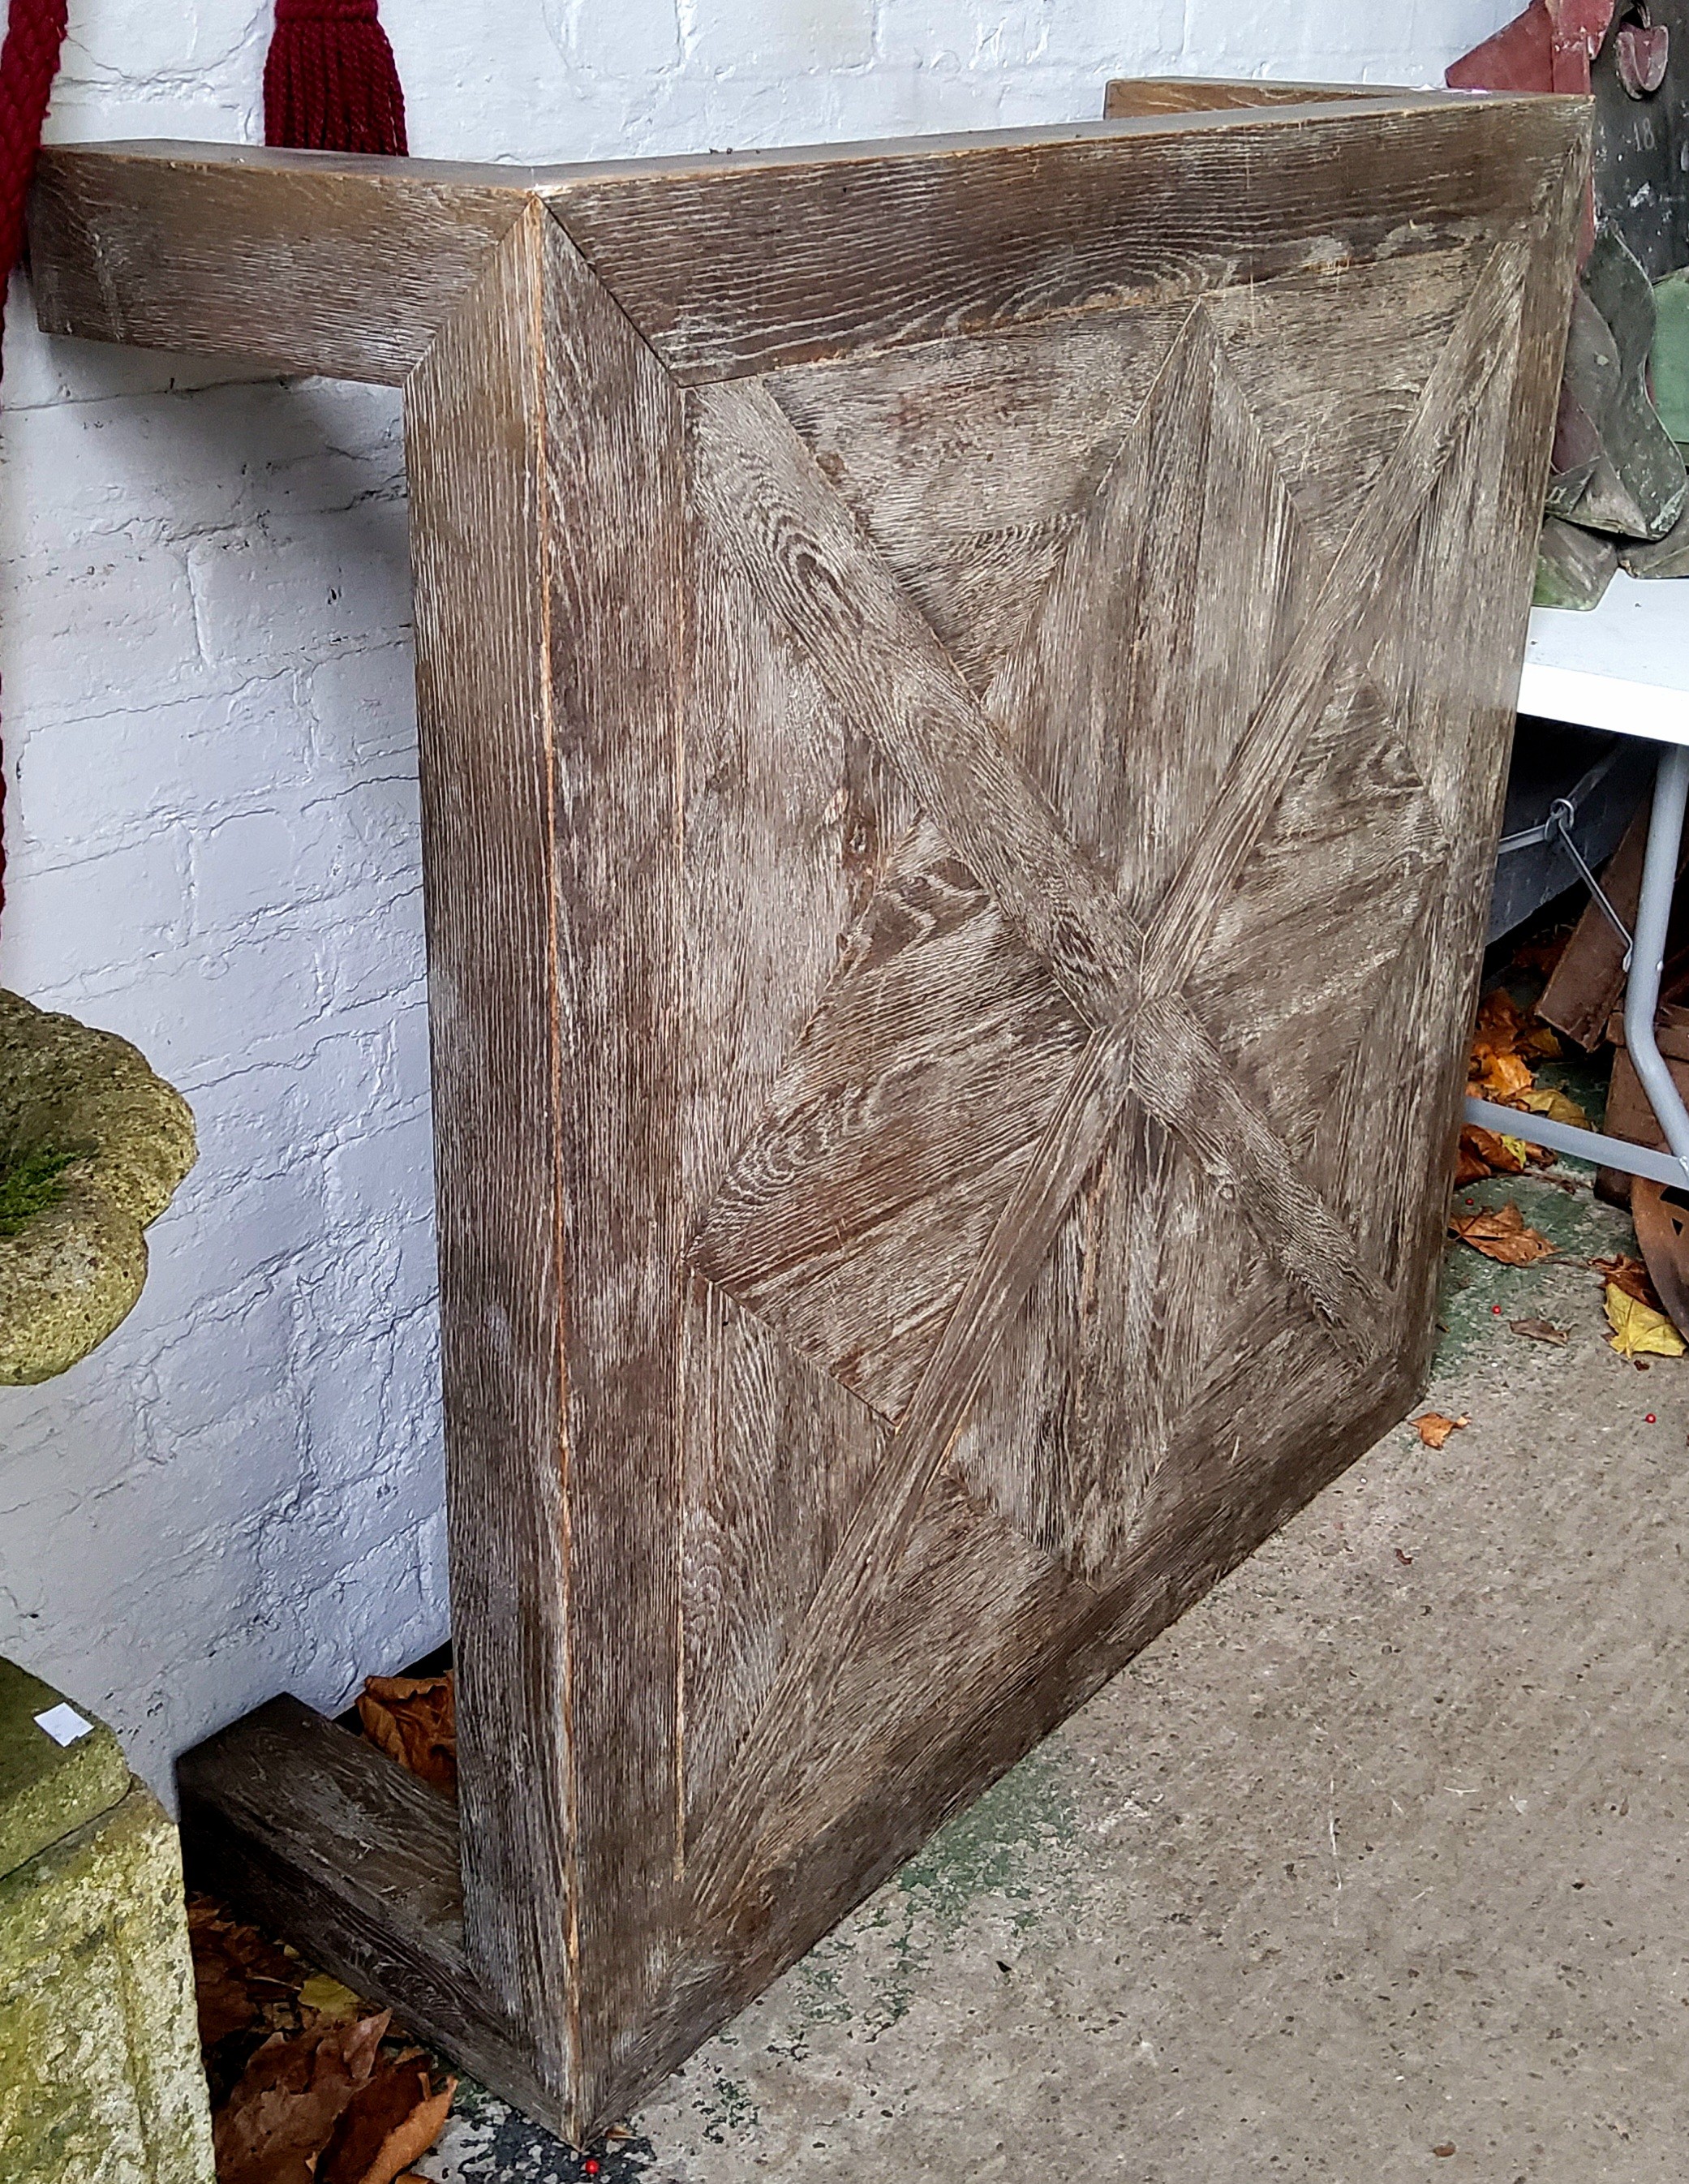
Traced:
<svg viewBox="0 0 1689 2184">
<path fill-rule="evenodd" d="M 31 194 L 50 334 L 400 384 L 527 203 L 524 170 L 72 144 Z"/>
</svg>

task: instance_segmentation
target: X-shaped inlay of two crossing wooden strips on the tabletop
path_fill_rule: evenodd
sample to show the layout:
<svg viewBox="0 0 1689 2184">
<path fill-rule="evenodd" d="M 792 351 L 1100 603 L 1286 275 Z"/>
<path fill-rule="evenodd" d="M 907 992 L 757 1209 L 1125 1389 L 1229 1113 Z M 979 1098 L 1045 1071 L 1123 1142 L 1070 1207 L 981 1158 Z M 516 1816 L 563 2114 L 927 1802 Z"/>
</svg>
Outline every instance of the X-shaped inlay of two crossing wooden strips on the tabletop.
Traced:
<svg viewBox="0 0 1689 2184">
<path fill-rule="evenodd" d="M 1344 1221 L 1300 1173 L 1186 1000 L 1219 902 L 1239 882 L 1304 756 L 1333 679 L 1355 662 L 1377 590 L 1508 354 L 1516 266 L 1481 271 L 1418 406 L 1337 550 L 1313 605 L 1237 743 L 1195 843 L 1147 917 L 1082 854 L 1007 749 L 990 703 L 909 603 L 773 395 L 739 380 L 695 393 L 695 494 L 763 614 L 813 666 L 828 703 L 889 758 L 961 863 L 1053 974 L 1086 1026 L 1034 1158 L 937 1337 L 867 1494 L 811 1603 L 697 1843 L 706 1889 L 749 1856 L 747 1832 L 778 1754 L 822 1701 L 828 1664 L 896 1572 L 920 1507 L 966 1424 L 1005 1321 L 1027 1295 L 1086 1173 L 1138 1101 L 1235 1199 L 1333 1337 L 1363 1365 L 1387 1334 L 1387 1293 Z M 1197 304 L 1162 378 L 1213 369 Z M 732 1186 L 695 1245 L 704 1273 L 730 1258 Z M 730 1284 L 732 1286 L 732 1284 Z"/>
</svg>

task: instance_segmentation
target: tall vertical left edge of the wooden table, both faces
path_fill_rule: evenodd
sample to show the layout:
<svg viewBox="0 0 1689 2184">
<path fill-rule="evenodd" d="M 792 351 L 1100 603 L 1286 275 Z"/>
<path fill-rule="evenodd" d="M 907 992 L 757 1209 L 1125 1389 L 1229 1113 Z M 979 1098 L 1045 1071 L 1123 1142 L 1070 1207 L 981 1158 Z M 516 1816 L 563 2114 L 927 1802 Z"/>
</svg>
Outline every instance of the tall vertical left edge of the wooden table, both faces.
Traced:
<svg viewBox="0 0 1689 2184">
<path fill-rule="evenodd" d="M 531 207 L 409 415 L 468 1948 L 579 2123 L 680 1826 L 682 408 Z"/>
</svg>

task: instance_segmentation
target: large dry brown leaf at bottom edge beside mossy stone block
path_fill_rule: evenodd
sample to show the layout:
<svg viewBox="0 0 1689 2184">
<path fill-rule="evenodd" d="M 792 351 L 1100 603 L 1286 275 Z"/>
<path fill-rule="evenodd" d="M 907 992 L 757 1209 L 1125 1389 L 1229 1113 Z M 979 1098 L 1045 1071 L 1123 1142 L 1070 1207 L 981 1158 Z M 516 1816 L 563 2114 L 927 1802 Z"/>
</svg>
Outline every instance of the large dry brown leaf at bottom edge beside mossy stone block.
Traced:
<svg viewBox="0 0 1689 2184">
<path fill-rule="evenodd" d="M 387 2014 L 273 2033 L 212 2123 L 216 2184 L 315 2184 L 317 2156 L 369 2084 Z"/>
</svg>

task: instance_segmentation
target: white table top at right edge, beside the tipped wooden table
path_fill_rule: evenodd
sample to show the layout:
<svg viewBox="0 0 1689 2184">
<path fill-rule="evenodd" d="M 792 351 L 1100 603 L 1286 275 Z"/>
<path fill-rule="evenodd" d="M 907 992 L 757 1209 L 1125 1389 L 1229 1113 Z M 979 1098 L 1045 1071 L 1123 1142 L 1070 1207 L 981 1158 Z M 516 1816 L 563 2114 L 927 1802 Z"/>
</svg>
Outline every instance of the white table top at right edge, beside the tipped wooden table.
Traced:
<svg viewBox="0 0 1689 2184">
<path fill-rule="evenodd" d="M 1519 710 L 1689 743 L 1689 579 L 1619 572 L 1593 614 L 1536 607 Z"/>
</svg>

